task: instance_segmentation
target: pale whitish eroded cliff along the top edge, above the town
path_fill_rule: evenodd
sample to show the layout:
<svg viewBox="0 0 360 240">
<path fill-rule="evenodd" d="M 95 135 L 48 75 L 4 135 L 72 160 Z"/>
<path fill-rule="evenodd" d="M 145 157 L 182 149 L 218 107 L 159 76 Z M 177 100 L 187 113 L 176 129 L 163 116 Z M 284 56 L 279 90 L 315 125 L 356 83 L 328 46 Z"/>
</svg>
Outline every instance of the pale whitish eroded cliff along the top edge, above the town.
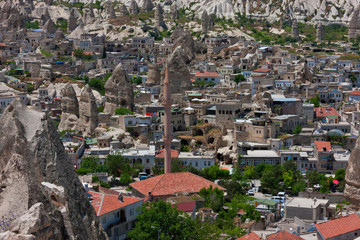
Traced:
<svg viewBox="0 0 360 240">
<path fill-rule="evenodd" d="M 92 0 L 68 0 L 71 3 L 94 2 Z M 131 0 L 112 0 L 130 6 Z M 144 0 L 136 0 L 142 6 Z M 329 23 L 348 23 L 354 8 L 359 0 L 173 0 L 153 1 L 171 2 L 177 7 L 186 9 L 189 13 L 194 11 L 201 17 L 203 11 L 215 14 L 217 17 L 233 18 L 237 13 L 269 21 L 279 20 L 284 14 L 290 14 L 298 20 L 316 23 L 325 21 Z"/>
</svg>

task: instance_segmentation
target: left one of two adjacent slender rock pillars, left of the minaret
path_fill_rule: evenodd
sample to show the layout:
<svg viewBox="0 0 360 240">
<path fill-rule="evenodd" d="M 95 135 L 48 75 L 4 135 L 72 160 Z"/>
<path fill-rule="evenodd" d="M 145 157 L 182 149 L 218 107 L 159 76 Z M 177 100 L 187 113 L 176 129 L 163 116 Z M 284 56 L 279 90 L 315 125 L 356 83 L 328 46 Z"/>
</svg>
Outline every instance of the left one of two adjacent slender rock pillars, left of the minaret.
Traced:
<svg viewBox="0 0 360 240">
<path fill-rule="evenodd" d="M 61 121 L 59 130 L 76 129 L 79 118 L 79 102 L 73 86 L 68 83 L 61 90 Z"/>
</svg>

